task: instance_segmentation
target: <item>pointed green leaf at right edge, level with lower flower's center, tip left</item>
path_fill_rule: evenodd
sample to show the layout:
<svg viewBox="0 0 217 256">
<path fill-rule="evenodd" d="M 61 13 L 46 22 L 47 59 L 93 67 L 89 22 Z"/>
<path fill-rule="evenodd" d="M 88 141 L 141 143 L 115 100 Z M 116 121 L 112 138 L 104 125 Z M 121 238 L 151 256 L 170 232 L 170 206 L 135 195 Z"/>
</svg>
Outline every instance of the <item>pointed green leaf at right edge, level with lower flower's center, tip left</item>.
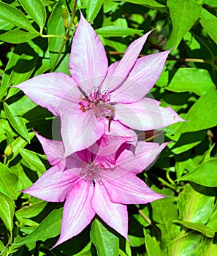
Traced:
<svg viewBox="0 0 217 256">
<path fill-rule="evenodd" d="M 181 177 L 180 181 L 193 181 L 207 187 L 217 187 L 217 159 L 210 159 L 196 167 L 191 173 Z"/>
</svg>

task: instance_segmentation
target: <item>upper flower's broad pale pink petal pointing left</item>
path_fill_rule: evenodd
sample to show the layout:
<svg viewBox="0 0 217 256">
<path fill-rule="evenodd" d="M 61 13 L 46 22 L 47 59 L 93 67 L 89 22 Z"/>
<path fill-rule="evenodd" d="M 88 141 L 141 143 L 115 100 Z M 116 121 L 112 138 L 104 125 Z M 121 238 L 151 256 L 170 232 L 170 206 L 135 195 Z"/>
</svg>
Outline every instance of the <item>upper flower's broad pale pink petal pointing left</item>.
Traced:
<svg viewBox="0 0 217 256">
<path fill-rule="evenodd" d="M 75 80 L 60 72 L 37 75 L 15 87 L 56 116 L 66 108 L 75 108 L 80 97 Z"/>
</svg>

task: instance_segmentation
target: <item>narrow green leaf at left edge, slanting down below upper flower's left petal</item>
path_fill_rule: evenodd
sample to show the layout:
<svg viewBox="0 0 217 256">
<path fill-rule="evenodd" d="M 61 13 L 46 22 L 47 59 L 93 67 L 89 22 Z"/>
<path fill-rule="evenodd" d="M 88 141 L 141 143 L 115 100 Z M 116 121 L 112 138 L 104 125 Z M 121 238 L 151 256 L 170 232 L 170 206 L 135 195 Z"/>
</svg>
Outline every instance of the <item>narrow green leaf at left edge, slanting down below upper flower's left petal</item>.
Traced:
<svg viewBox="0 0 217 256">
<path fill-rule="evenodd" d="M 23 118 L 20 116 L 16 116 L 15 113 L 12 113 L 12 111 L 9 108 L 9 105 L 7 105 L 6 102 L 4 102 L 4 111 L 6 113 L 6 116 L 12 125 L 12 127 L 23 137 L 25 138 L 28 143 L 30 143 L 28 131 L 26 129 L 26 125 L 23 122 Z"/>
</svg>

